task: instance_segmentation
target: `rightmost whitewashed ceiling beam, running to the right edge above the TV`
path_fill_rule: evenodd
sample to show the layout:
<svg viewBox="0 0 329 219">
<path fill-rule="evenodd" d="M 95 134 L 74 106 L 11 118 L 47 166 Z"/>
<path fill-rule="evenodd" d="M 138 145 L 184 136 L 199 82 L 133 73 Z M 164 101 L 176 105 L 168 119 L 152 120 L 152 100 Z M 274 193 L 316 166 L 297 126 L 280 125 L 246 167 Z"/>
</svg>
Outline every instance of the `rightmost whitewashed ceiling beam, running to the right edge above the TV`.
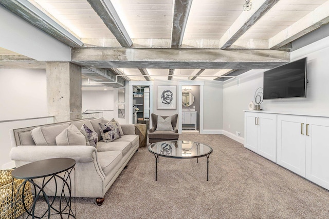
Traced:
<svg viewBox="0 0 329 219">
<path fill-rule="evenodd" d="M 269 48 L 277 49 L 329 23 L 329 1 L 310 12 L 293 25 L 269 39 Z"/>
</svg>

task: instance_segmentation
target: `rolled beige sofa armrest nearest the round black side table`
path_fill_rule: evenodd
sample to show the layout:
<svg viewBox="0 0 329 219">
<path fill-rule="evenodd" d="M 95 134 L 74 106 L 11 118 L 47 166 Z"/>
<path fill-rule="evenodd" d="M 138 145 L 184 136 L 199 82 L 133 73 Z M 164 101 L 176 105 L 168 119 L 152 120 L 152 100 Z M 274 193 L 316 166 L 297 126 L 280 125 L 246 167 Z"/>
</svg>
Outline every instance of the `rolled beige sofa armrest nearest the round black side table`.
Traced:
<svg viewBox="0 0 329 219">
<path fill-rule="evenodd" d="M 40 146 L 24 145 L 13 147 L 10 158 L 13 161 L 34 162 L 56 157 L 74 159 L 77 163 L 96 160 L 97 150 L 93 146 Z"/>
</svg>

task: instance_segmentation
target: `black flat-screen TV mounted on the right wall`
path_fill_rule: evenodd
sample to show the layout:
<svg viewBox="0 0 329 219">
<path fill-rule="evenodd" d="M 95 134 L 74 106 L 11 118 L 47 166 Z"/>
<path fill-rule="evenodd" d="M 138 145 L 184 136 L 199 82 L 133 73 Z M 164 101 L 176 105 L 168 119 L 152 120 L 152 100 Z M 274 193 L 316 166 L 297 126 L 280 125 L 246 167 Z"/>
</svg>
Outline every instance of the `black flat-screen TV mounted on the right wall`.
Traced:
<svg viewBox="0 0 329 219">
<path fill-rule="evenodd" d="M 264 71 L 264 99 L 306 97 L 307 57 Z"/>
</svg>

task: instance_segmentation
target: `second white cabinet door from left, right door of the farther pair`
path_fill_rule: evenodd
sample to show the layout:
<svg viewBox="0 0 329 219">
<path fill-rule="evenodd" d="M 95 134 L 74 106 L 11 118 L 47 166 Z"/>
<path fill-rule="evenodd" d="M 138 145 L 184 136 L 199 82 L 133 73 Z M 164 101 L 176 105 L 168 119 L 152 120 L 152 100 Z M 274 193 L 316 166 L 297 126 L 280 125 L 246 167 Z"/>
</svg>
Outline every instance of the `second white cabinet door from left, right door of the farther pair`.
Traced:
<svg viewBox="0 0 329 219">
<path fill-rule="evenodd" d="M 277 162 L 277 115 L 258 113 L 258 153 Z"/>
</svg>

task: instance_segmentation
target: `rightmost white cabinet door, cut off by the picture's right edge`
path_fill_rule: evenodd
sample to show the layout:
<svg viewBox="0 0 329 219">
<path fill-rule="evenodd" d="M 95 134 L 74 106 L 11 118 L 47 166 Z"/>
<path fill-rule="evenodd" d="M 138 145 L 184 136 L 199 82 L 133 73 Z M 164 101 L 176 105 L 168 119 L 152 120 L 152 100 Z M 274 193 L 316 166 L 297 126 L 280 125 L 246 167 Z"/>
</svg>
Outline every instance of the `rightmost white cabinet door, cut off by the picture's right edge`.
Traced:
<svg viewBox="0 0 329 219">
<path fill-rule="evenodd" d="M 329 118 L 308 117 L 306 178 L 329 189 Z"/>
</svg>

